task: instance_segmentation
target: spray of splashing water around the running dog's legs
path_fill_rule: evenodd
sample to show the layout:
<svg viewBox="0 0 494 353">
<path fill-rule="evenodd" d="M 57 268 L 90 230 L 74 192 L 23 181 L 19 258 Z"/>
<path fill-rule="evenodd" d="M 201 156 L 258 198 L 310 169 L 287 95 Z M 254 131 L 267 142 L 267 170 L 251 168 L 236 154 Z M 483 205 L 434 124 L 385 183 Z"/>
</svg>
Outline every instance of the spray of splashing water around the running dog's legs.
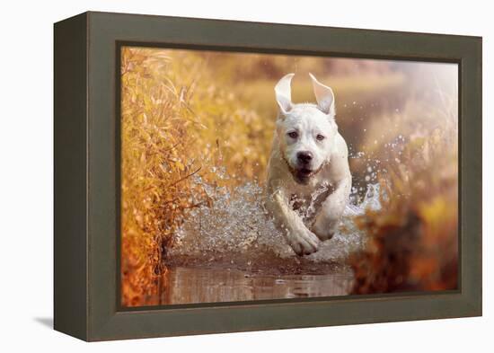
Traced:
<svg viewBox="0 0 494 353">
<path fill-rule="evenodd" d="M 355 217 L 363 215 L 366 208 L 381 207 L 379 184 L 369 184 L 360 204 L 348 204 L 331 240 L 321 243 L 318 252 L 299 258 L 269 217 L 263 206 L 264 190 L 257 183 L 247 182 L 229 190 L 209 185 L 200 176 L 194 182 L 203 185 L 213 204 L 191 210 L 176 234 L 168 258 L 181 265 L 193 261 L 196 265 L 226 263 L 242 268 L 276 263 L 293 268 L 294 264 L 344 263 L 351 252 L 366 243 L 366 234 L 357 229 Z M 314 202 L 318 195 L 314 191 Z M 313 213 L 313 205 L 300 212 L 305 213 L 303 217 Z"/>
</svg>

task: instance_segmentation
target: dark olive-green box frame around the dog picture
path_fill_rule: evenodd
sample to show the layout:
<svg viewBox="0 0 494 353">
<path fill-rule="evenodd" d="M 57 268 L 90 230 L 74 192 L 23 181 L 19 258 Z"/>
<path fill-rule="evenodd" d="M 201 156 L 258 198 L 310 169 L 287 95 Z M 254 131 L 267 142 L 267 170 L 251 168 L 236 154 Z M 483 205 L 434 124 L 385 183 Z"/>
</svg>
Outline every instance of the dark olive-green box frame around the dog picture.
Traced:
<svg viewBox="0 0 494 353">
<path fill-rule="evenodd" d="M 460 288 L 299 301 L 119 307 L 119 48 L 455 62 Z M 481 315 L 481 38 L 120 13 L 55 24 L 55 329 L 119 340 Z"/>
</svg>

